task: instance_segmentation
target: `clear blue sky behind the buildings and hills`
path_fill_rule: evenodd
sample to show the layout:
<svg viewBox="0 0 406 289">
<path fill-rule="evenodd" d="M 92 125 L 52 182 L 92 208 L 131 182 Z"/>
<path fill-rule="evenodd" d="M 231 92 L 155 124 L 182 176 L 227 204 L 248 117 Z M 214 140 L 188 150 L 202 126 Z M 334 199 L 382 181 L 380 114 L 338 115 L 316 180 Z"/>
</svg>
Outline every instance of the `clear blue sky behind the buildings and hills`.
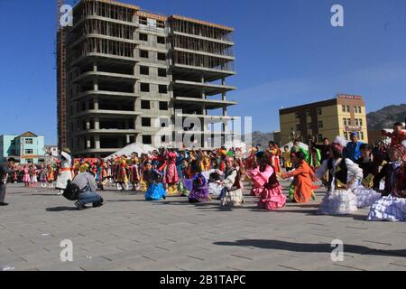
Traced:
<svg viewBox="0 0 406 289">
<path fill-rule="evenodd" d="M 73 1 L 67 1 L 71 4 Z M 144 10 L 235 27 L 235 116 L 279 129 L 278 110 L 363 95 L 367 111 L 405 103 L 404 0 L 124 0 Z M 0 135 L 31 130 L 56 144 L 56 0 L 0 0 Z M 345 26 L 330 24 L 344 7 Z"/>
</svg>

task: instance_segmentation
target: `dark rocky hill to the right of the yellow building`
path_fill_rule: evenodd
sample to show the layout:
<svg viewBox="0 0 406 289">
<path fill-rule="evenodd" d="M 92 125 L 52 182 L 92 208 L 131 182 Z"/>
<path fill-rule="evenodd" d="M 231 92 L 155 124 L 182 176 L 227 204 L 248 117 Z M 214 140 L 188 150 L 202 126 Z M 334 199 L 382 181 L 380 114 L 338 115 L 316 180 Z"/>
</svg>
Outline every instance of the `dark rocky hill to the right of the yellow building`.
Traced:
<svg viewBox="0 0 406 289">
<path fill-rule="evenodd" d="M 366 115 L 368 130 L 381 130 L 392 128 L 396 122 L 404 122 L 406 117 L 406 104 L 383 107 Z"/>
</svg>

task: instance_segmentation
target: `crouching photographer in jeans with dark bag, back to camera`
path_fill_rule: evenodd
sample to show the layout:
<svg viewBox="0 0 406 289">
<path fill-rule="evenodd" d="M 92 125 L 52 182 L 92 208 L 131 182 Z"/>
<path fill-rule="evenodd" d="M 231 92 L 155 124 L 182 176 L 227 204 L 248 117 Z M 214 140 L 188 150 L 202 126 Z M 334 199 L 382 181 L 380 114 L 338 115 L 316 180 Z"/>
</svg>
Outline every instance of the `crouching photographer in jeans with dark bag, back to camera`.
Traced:
<svg viewBox="0 0 406 289">
<path fill-rule="evenodd" d="M 63 196 L 75 202 L 78 210 L 85 210 L 86 204 L 93 203 L 93 207 L 103 206 L 103 198 L 97 194 L 97 182 L 90 172 L 79 173 L 63 192 Z"/>
</svg>

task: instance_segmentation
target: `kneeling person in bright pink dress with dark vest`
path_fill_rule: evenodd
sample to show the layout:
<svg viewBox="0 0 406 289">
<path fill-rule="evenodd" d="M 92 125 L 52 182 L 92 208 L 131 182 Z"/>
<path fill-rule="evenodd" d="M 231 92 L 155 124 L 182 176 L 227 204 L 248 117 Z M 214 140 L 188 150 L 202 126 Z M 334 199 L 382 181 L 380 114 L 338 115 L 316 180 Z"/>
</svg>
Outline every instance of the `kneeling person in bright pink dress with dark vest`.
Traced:
<svg viewBox="0 0 406 289">
<path fill-rule="evenodd" d="M 256 154 L 258 166 L 246 171 L 247 177 L 253 181 L 252 195 L 258 196 L 258 207 L 263 210 L 276 210 L 286 204 L 286 196 L 282 193 L 281 184 L 276 178 L 276 172 L 268 163 L 268 157 L 263 152 Z"/>
</svg>

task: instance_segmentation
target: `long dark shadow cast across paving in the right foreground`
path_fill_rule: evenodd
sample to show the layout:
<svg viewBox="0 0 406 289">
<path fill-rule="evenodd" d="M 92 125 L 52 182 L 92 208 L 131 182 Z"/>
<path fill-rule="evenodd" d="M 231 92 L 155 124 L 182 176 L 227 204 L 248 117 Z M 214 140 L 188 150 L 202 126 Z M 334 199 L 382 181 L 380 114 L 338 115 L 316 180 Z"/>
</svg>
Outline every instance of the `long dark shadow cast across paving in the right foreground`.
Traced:
<svg viewBox="0 0 406 289">
<path fill-rule="evenodd" d="M 330 244 L 303 244 L 292 243 L 280 240 L 263 240 L 263 239 L 244 239 L 235 242 L 214 242 L 218 246 L 237 246 L 237 247 L 259 247 L 263 249 L 276 249 L 291 252 L 303 253 L 331 253 L 334 247 Z M 379 250 L 360 245 L 346 245 L 344 244 L 344 252 L 355 253 L 369 256 L 402 256 L 406 257 L 406 249 L 400 250 Z"/>
</svg>

